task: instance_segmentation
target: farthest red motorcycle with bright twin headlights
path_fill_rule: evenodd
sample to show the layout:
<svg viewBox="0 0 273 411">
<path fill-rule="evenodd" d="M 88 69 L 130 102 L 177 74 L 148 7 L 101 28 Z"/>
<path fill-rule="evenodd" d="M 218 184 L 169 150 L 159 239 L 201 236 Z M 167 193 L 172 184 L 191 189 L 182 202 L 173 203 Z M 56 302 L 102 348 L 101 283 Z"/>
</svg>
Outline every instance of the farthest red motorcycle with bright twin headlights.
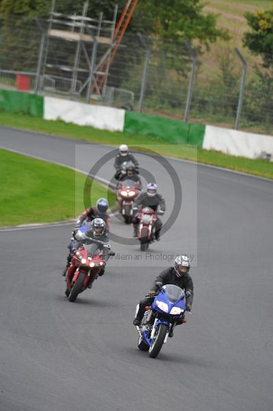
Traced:
<svg viewBox="0 0 273 411">
<path fill-rule="evenodd" d="M 120 206 L 120 212 L 125 219 L 125 224 L 130 224 L 133 217 L 133 201 L 140 194 L 138 190 L 138 182 L 133 182 L 131 179 L 126 179 L 118 183 L 117 199 Z"/>
</svg>

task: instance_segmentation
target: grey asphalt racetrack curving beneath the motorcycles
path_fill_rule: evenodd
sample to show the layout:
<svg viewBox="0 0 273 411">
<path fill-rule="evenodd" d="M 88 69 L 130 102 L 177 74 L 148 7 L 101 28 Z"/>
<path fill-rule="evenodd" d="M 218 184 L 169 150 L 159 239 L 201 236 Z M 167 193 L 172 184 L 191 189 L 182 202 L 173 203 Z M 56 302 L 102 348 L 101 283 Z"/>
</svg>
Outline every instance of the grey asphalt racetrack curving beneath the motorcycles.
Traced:
<svg viewBox="0 0 273 411">
<path fill-rule="evenodd" d="M 83 171 L 112 151 L 5 127 L 0 146 Z M 177 217 L 146 254 L 114 216 L 117 258 L 75 303 L 61 276 L 73 225 L 1 231 L 1 411 L 272 411 L 273 183 L 138 159 L 164 223 Z M 135 306 L 179 252 L 192 256 L 192 315 L 154 360 L 137 348 Z"/>
</svg>

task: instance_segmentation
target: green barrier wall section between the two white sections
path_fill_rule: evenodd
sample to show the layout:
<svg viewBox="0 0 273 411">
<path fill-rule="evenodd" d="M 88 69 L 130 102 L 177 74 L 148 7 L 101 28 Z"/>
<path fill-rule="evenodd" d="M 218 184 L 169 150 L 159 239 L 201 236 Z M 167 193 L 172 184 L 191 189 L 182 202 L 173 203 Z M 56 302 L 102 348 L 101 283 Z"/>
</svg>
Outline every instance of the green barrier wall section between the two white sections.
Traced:
<svg viewBox="0 0 273 411">
<path fill-rule="evenodd" d="M 205 125 L 190 124 L 183 121 L 127 111 L 125 113 L 123 132 L 151 137 L 156 136 L 169 143 L 176 142 L 178 144 L 202 147 Z"/>
</svg>

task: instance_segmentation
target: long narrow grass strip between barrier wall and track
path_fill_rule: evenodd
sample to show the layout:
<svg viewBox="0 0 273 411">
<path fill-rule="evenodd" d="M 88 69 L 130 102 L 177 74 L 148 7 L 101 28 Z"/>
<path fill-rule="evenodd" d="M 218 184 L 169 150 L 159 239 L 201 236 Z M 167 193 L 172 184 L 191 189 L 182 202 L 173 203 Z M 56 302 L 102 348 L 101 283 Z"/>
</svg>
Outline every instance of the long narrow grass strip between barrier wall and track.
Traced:
<svg viewBox="0 0 273 411">
<path fill-rule="evenodd" d="M 164 141 L 163 138 L 159 137 L 138 136 L 134 134 L 123 134 L 121 132 L 107 132 L 105 130 L 94 129 L 88 126 L 64 123 L 64 121 L 47 121 L 10 112 L 0 112 L 0 125 L 107 145 L 120 145 L 121 143 L 140 146 L 147 144 L 165 145 L 162 149 L 157 146 L 157 152 L 171 157 L 211 164 L 213 166 L 224 167 L 242 173 L 250 173 L 260 177 L 273 179 L 272 162 L 250 160 L 247 158 L 226 155 L 217 151 L 207 151 L 203 149 L 196 150 L 196 147 L 177 144 L 170 145 L 169 142 L 166 140 Z M 166 147 L 166 145 L 168 145 L 168 147 Z"/>
</svg>

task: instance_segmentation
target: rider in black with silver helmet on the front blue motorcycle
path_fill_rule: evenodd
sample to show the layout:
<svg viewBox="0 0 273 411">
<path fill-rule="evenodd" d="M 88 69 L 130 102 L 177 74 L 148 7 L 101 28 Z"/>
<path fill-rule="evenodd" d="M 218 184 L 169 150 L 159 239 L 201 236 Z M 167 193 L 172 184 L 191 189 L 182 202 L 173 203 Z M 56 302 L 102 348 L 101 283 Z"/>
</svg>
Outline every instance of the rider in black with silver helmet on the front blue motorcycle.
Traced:
<svg viewBox="0 0 273 411">
<path fill-rule="evenodd" d="M 190 312 L 192 310 L 192 301 L 194 299 L 194 284 L 192 282 L 192 277 L 189 275 L 190 271 L 190 260 L 187 256 L 178 256 L 174 260 L 174 266 L 161 271 L 161 273 L 155 279 L 151 290 L 148 292 L 148 295 L 140 301 L 140 306 L 138 309 L 138 313 L 133 320 L 133 325 L 140 326 L 142 317 L 145 312 L 146 306 L 151 306 L 155 296 L 158 294 L 159 290 L 162 286 L 166 284 L 174 284 L 175 286 L 179 286 L 185 291 L 186 296 L 186 310 Z M 185 317 L 185 313 L 183 319 Z M 183 320 L 182 319 L 182 320 Z M 183 323 L 183 321 L 181 321 Z M 172 337 L 173 329 L 170 329 L 169 336 Z"/>
</svg>

